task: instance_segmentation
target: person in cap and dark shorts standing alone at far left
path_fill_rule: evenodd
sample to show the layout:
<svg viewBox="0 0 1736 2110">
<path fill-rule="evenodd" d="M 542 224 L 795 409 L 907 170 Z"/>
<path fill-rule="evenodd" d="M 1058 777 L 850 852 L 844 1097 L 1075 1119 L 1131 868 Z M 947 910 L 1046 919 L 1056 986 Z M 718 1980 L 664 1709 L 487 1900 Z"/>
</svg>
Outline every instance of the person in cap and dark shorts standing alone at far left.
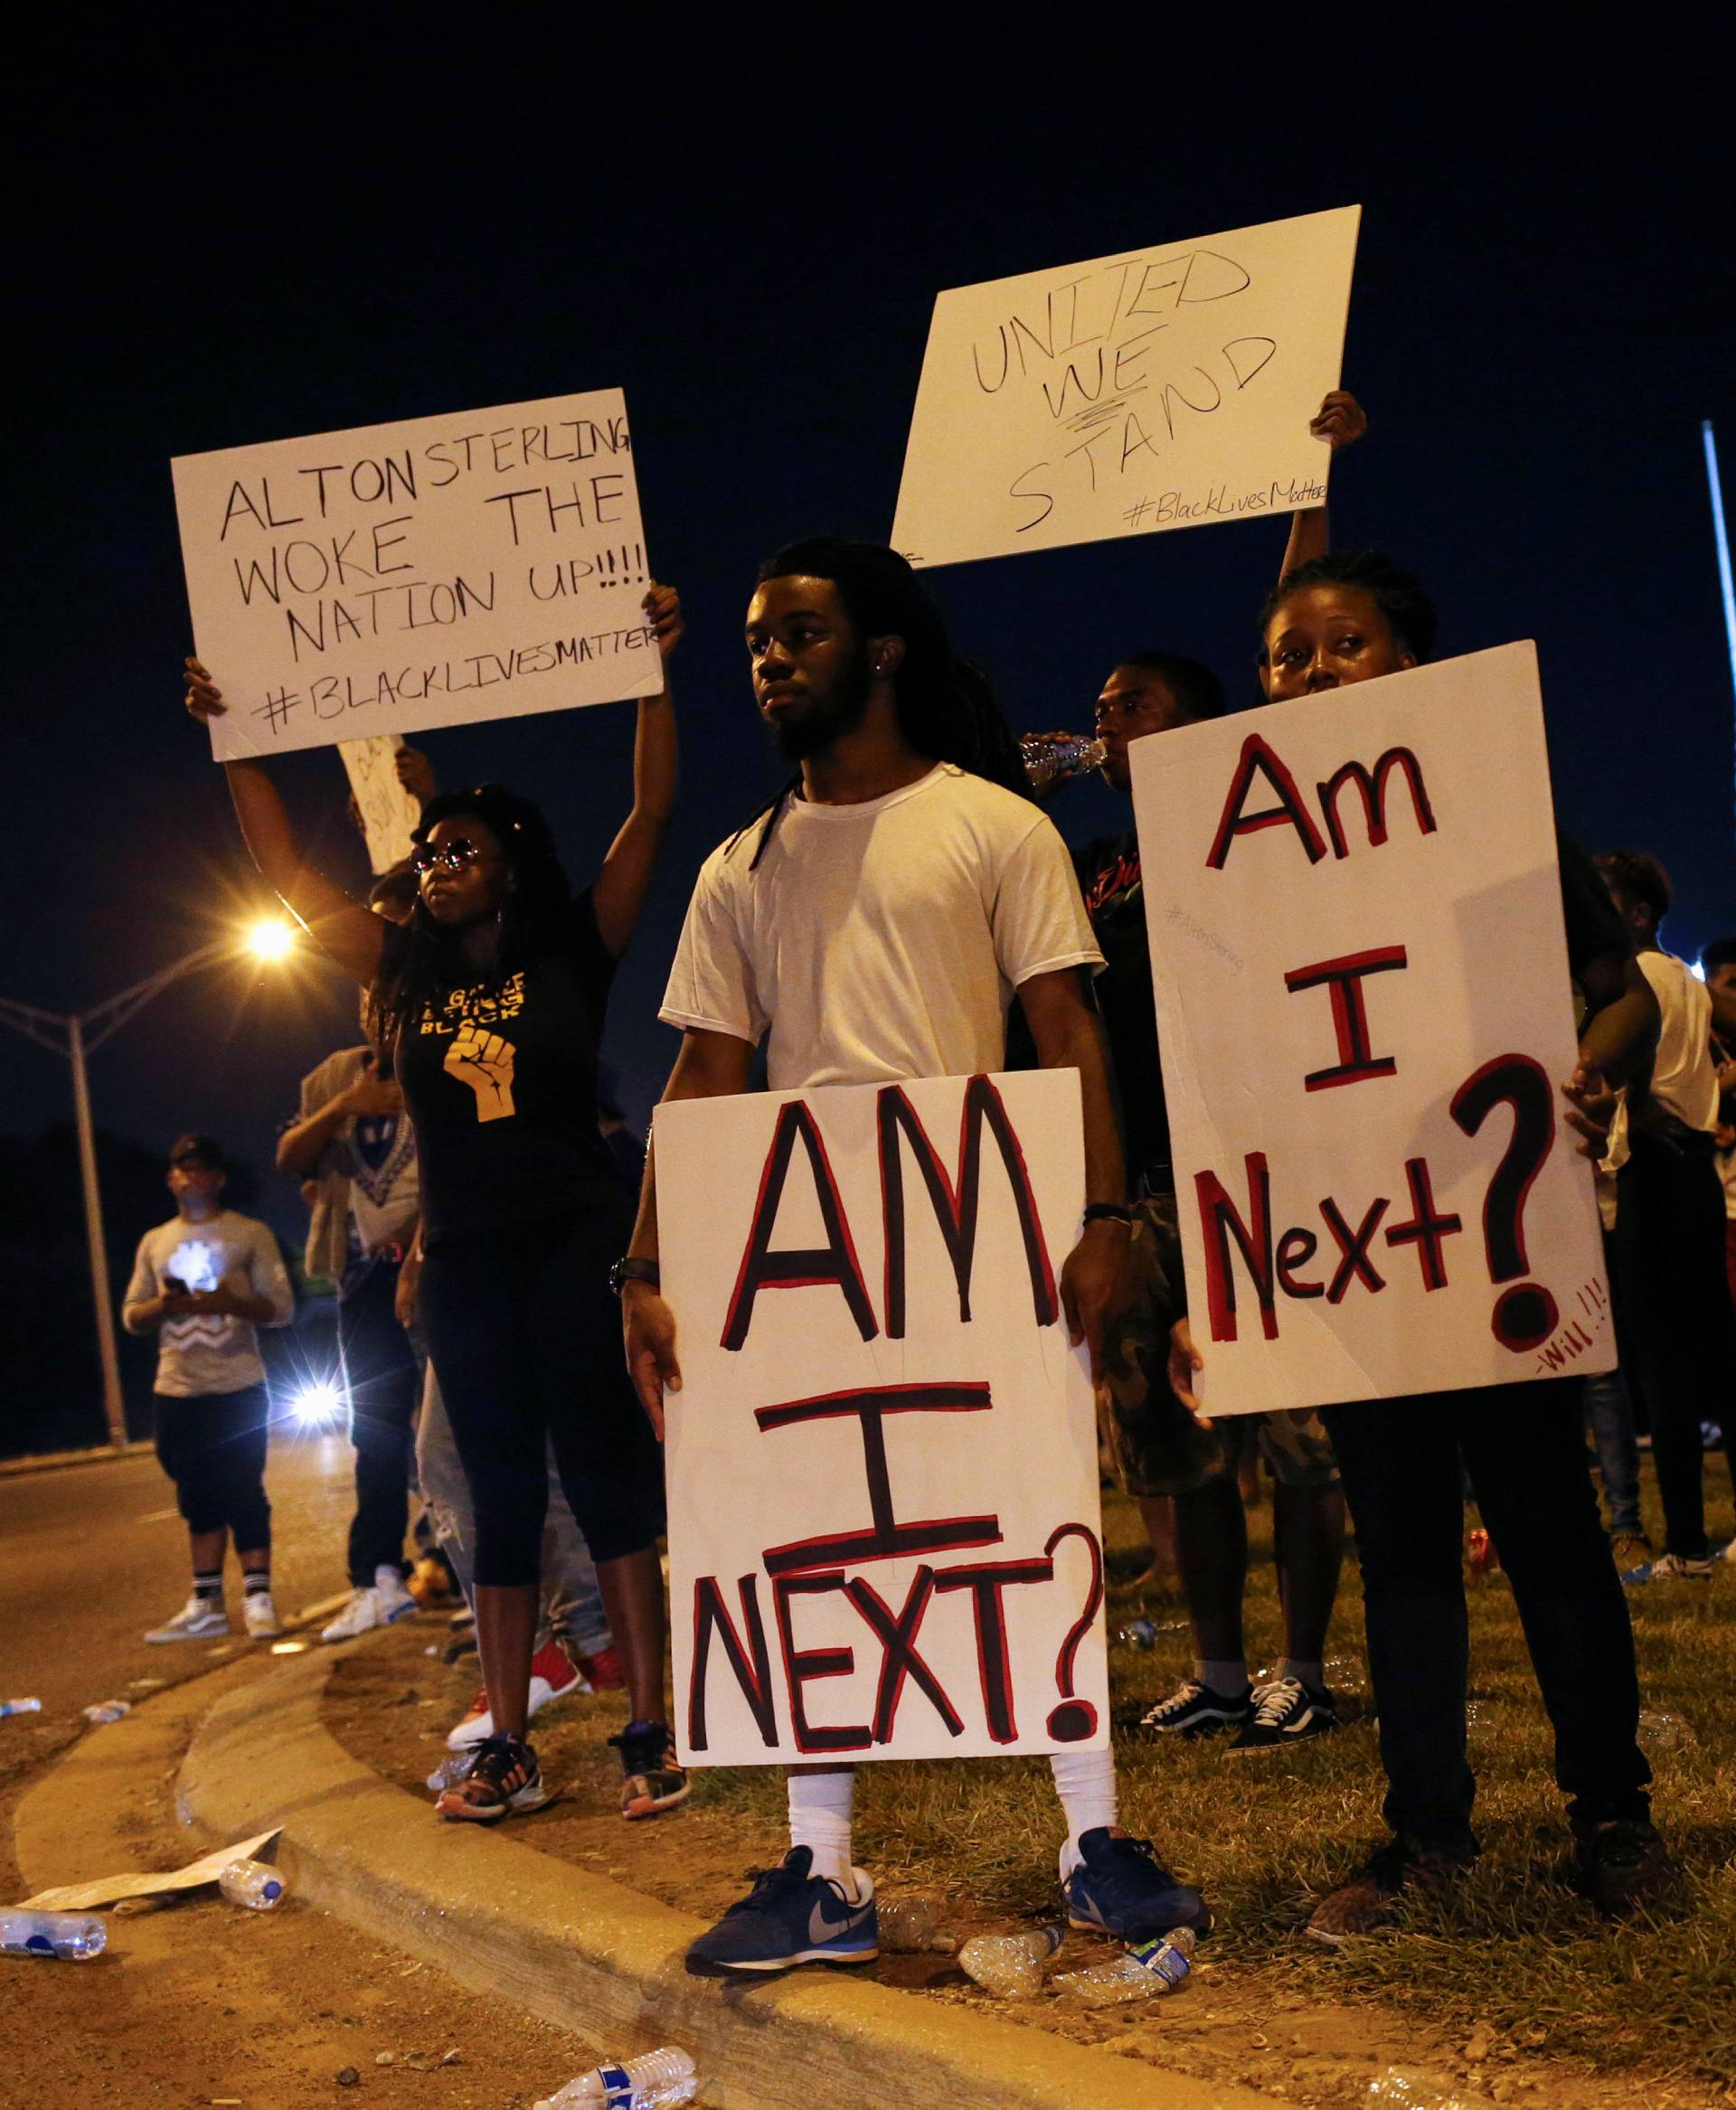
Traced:
<svg viewBox="0 0 1736 2110">
<path fill-rule="evenodd" d="M 139 1239 L 120 1302 L 129 1334 L 156 1334 L 156 1456 L 188 1523 L 192 1595 L 148 1642 L 230 1631 L 224 1549 L 234 1538 L 249 1635 L 283 1633 L 272 1606 L 266 1500 L 266 1365 L 255 1327 L 289 1325 L 295 1296 L 266 1224 L 224 1207 L 228 1160 L 211 1135 L 169 1152 L 175 1215 Z"/>
</svg>

